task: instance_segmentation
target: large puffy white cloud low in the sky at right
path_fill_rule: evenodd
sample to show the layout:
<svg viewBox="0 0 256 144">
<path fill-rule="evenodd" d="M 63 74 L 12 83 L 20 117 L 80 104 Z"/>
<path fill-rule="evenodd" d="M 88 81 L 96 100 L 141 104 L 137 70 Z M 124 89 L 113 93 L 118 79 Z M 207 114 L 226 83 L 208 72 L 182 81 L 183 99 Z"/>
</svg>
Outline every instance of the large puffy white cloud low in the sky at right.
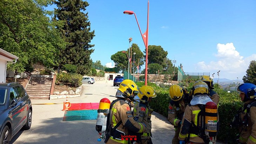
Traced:
<svg viewBox="0 0 256 144">
<path fill-rule="evenodd" d="M 237 52 L 233 43 L 218 43 L 217 50 L 217 54 L 214 54 L 214 56 L 218 61 L 211 61 L 208 64 L 205 61 L 198 62 L 196 66 L 197 69 L 207 71 L 221 70 L 222 74 L 225 74 L 227 77 L 230 77 L 228 74 L 231 74 L 240 76 L 242 79 L 242 76 L 245 75 L 245 71 L 248 69 L 250 61 L 256 59 L 256 54 L 252 54 L 245 58 L 241 56 L 240 53 Z"/>
</svg>

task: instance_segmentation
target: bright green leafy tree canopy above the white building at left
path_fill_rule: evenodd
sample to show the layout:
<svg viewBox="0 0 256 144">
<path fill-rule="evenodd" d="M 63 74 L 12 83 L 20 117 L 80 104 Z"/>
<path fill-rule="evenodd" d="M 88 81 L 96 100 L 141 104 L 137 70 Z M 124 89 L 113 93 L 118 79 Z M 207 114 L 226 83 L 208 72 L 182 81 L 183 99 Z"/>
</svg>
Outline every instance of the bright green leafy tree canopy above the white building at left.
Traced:
<svg viewBox="0 0 256 144">
<path fill-rule="evenodd" d="M 34 63 L 58 65 L 58 51 L 66 46 L 55 29 L 57 23 L 43 9 L 48 0 L 1 0 L 0 48 L 19 57 L 7 69 L 33 71 Z"/>
</svg>

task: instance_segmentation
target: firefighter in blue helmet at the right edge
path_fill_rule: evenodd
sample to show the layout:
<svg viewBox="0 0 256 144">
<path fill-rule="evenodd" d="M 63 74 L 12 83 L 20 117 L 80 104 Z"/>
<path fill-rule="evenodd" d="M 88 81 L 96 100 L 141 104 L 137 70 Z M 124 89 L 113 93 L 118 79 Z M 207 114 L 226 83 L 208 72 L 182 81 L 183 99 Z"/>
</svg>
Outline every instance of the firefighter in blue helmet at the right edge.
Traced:
<svg viewBox="0 0 256 144">
<path fill-rule="evenodd" d="M 230 125 L 239 125 L 240 137 L 237 140 L 240 143 L 256 144 L 256 86 L 243 83 L 237 87 L 237 91 L 244 104 Z"/>
</svg>

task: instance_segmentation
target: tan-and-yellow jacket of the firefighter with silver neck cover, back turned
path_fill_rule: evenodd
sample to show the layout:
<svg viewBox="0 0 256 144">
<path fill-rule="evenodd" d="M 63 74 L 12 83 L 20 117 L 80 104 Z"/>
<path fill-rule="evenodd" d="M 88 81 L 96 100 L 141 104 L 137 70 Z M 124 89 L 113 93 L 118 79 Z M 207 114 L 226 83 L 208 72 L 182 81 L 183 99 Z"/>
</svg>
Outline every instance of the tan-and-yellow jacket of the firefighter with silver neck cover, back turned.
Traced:
<svg viewBox="0 0 256 144">
<path fill-rule="evenodd" d="M 198 118 L 198 114 L 200 111 L 201 109 L 198 107 L 198 105 L 187 105 L 182 119 L 181 130 L 178 139 L 185 140 L 186 137 L 189 137 L 188 142 L 190 143 L 204 144 L 204 141 L 201 137 L 191 132 L 191 128 L 194 127 L 191 122 L 193 122 L 196 126 L 201 126 L 201 116 L 199 116 Z M 213 143 L 215 143 L 214 139 Z"/>
</svg>

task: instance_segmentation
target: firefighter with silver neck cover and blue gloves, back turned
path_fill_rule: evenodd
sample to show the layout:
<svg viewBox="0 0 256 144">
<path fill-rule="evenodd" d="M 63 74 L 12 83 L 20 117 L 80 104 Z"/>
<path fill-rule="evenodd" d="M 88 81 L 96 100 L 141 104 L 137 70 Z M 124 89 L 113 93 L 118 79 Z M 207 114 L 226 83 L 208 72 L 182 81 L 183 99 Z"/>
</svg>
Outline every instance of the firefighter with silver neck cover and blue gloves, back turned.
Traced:
<svg viewBox="0 0 256 144">
<path fill-rule="evenodd" d="M 212 102 L 208 96 L 208 92 L 208 85 L 205 82 L 199 80 L 193 84 L 190 93 L 193 95 L 193 99 L 187 105 L 181 123 L 181 130 L 178 137 L 180 144 L 185 144 L 185 139 L 189 144 L 209 144 L 209 138 L 206 137 L 202 119 L 204 117 L 203 113 L 205 113 L 204 105 L 207 102 Z M 215 140 L 213 139 L 212 142 L 214 143 Z"/>
</svg>

